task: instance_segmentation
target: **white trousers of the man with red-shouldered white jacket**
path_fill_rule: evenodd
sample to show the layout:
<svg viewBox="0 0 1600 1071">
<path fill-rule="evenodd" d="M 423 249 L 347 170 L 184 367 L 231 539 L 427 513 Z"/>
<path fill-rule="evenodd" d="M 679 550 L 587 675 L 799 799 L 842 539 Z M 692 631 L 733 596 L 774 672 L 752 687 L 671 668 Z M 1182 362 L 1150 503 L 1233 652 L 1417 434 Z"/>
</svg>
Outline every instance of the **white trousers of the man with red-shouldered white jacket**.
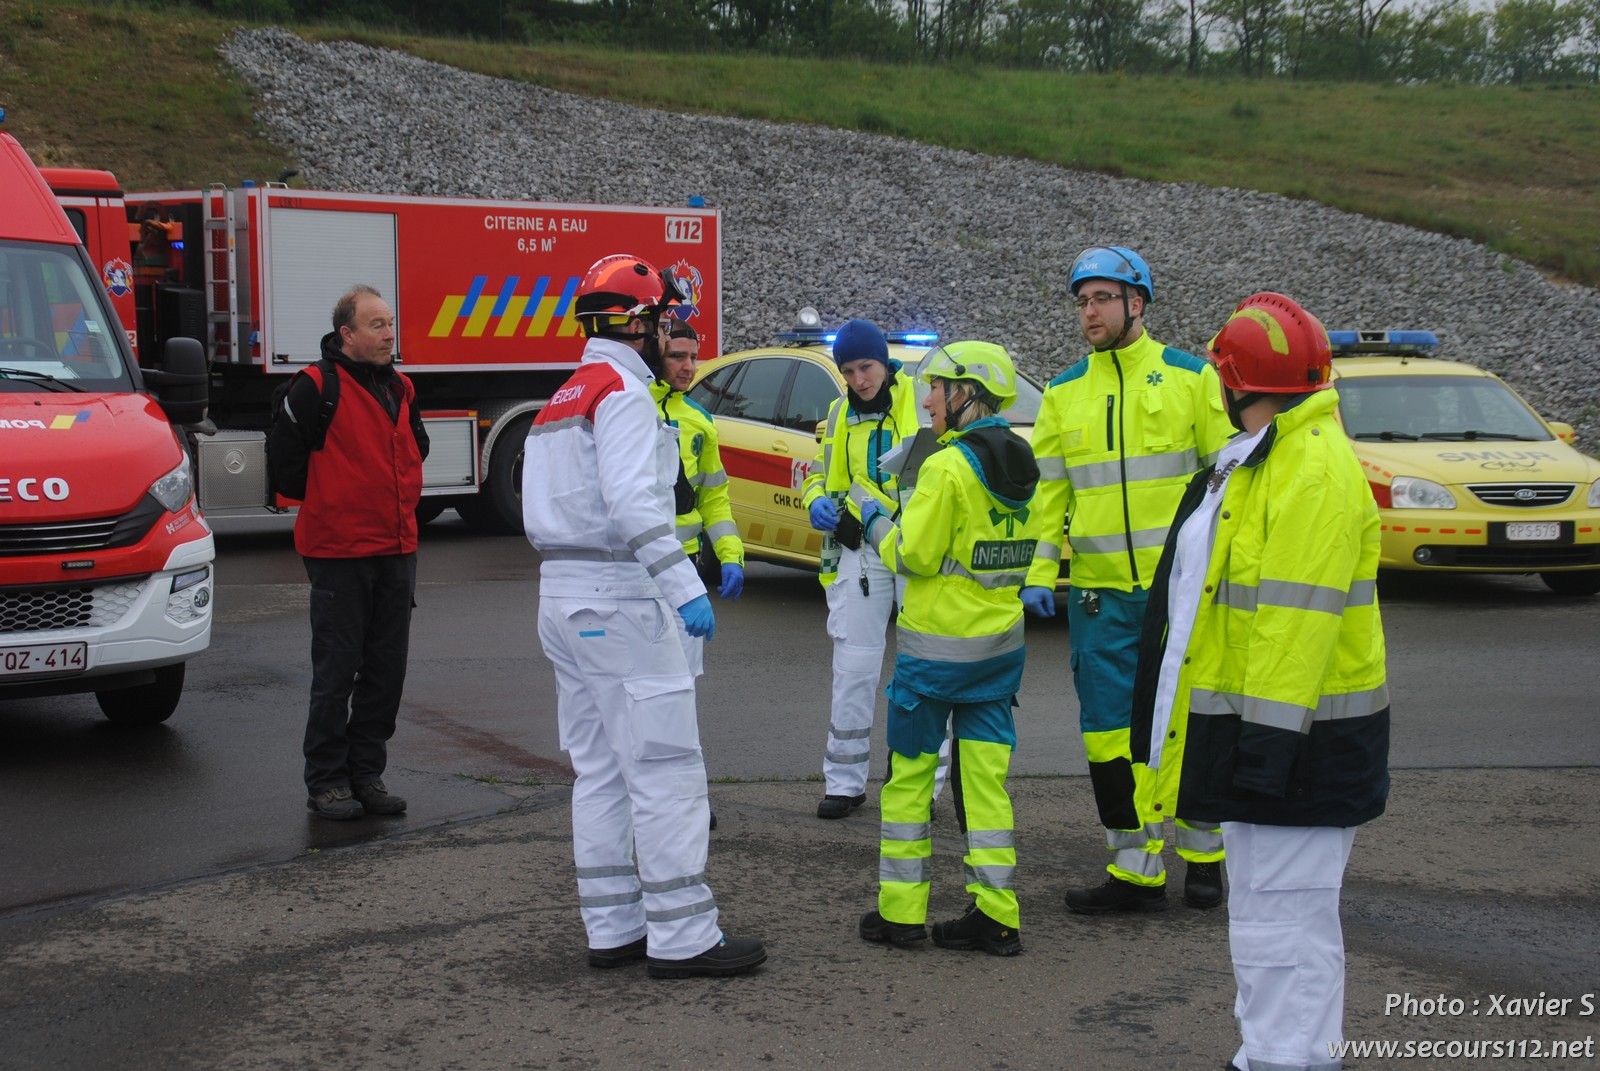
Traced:
<svg viewBox="0 0 1600 1071">
<path fill-rule="evenodd" d="M 573 861 L 589 948 L 648 935 L 656 959 L 722 940 L 706 884 L 710 805 L 694 679 L 666 599 L 541 596 L 573 772 Z"/>
</svg>

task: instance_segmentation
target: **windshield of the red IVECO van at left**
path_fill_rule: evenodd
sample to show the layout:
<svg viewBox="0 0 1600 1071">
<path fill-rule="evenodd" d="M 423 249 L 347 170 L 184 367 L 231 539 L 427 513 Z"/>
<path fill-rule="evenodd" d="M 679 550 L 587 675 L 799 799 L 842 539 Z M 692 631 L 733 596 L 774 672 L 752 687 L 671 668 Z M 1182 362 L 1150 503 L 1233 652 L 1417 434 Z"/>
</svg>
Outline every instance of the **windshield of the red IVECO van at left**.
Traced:
<svg viewBox="0 0 1600 1071">
<path fill-rule="evenodd" d="M 131 391 L 120 336 L 78 248 L 0 242 L 0 391 Z"/>
</svg>

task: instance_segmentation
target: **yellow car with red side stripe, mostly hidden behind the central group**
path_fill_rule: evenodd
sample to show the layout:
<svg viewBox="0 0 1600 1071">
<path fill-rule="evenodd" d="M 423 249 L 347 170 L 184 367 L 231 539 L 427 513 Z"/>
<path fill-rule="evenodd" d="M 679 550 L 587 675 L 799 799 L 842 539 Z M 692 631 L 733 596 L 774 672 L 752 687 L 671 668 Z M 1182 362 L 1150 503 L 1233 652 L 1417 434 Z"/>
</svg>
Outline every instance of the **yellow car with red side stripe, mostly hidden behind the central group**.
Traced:
<svg viewBox="0 0 1600 1071">
<path fill-rule="evenodd" d="M 690 400 L 717 418 L 722 466 L 728 471 L 733 520 L 747 557 L 814 568 L 822 536 L 800 504 L 818 451 L 818 424 L 827 419 L 845 381 L 834 363 L 834 335 L 802 314 L 802 327 L 773 346 L 723 354 L 701 363 Z M 915 375 L 938 336 L 890 331 L 890 357 Z M 917 399 L 926 384 L 918 381 Z M 1018 376 L 1016 403 L 1002 413 L 1024 439 L 1038 416 L 1038 384 Z M 918 410 L 920 413 L 920 410 Z"/>
</svg>

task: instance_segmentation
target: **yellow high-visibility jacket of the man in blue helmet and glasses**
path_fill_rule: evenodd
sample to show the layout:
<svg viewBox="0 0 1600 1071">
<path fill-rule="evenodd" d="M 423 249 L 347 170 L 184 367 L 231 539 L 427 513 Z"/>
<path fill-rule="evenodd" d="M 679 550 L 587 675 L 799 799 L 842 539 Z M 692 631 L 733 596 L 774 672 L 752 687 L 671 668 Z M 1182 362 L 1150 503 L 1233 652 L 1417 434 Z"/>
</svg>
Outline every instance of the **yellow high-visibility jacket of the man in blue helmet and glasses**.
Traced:
<svg viewBox="0 0 1600 1071">
<path fill-rule="evenodd" d="M 1184 485 L 1232 434 L 1216 370 L 1147 333 L 1051 379 L 1034 424 L 1029 586 L 1056 586 L 1070 517 L 1074 588 L 1149 588 Z"/>
</svg>

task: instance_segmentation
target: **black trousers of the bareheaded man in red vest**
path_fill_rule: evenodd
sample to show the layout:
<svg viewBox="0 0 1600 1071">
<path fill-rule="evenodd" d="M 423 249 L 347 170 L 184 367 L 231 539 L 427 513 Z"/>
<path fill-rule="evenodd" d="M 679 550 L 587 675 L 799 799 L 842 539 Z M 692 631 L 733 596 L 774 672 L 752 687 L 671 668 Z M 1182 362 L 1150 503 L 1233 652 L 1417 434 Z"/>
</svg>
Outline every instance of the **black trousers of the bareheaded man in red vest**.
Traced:
<svg viewBox="0 0 1600 1071">
<path fill-rule="evenodd" d="M 405 688 L 416 554 L 302 560 L 310 578 L 306 788 L 317 796 L 384 775 Z"/>
</svg>

